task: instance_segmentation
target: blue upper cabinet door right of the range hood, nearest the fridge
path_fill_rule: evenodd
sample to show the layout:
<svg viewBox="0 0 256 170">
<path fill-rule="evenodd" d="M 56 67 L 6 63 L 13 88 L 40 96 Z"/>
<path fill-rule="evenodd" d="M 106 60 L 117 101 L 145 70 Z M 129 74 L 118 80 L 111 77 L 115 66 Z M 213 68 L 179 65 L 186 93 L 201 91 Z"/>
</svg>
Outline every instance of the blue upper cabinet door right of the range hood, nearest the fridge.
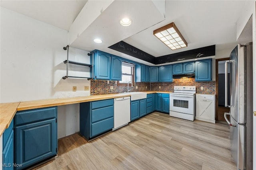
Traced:
<svg viewBox="0 0 256 170">
<path fill-rule="evenodd" d="M 196 61 L 195 80 L 196 82 L 212 80 L 212 59 Z"/>
</svg>

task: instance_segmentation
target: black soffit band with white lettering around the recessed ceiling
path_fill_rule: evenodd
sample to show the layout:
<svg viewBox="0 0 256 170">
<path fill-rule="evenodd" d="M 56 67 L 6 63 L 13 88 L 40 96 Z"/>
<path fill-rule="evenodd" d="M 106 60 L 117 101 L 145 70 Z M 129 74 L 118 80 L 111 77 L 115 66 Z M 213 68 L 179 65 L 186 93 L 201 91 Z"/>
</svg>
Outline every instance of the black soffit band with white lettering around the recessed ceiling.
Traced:
<svg viewBox="0 0 256 170">
<path fill-rule="evenodd" d="M 180 53 L 164 55 L 160 57 L 154 57 L 124 41 L 120 41 L 114 45 L 111 45 L 108 48 L 130 55 L 132 57 L 136 57 L 137 59 L 141 59 L 152 64 L 172 63 L 176 61 L 184 61 L 215 55 L 215 45 L 183 51 Z"/>
</svg>

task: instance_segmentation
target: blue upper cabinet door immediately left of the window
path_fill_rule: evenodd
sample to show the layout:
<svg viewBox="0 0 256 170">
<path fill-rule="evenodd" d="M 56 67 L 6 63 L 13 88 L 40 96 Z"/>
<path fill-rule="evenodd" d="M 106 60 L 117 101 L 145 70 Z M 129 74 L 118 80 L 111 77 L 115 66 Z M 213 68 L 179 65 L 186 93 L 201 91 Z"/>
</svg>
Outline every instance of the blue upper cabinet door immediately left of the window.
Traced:
<svg viewBox="0 0 256 170">
<path fill-rule="evenodd" d="M 111 78 L 110 80 L 122 80 L 122 58 L 111 56 Z"/>
</svg>

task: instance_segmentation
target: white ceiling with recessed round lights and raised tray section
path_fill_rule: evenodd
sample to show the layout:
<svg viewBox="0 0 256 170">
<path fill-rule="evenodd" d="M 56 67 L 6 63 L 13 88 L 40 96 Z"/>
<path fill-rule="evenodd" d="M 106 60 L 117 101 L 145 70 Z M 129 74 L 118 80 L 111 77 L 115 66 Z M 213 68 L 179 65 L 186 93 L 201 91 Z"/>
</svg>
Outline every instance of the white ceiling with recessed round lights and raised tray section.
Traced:
<svg viewBox="0 0 256 170">
<path fill-rule="evenodd" d="M 89 1 L 95 5 L 102 3 L 100 0 Z M 1 0 L 0 2 L 4 8 L 69 30 L 87 1 Z M 88 27 L 84 28 L 83 33 L 79 34 L 70 46 L 86 51 L 99 49 L 140 61 L 108 47 L 124 41 L 154 57 L 159 57 L 209 45 L 216 45 L 216 50 L 228 49 L 233 48 L 237 43 L 236 21 L 246 1 L 158 0 L 155 2 L 165 4 L 166 18 L 151 0 L 115 0 L 108 8 L 103 9 L 100 16 L 88 24 Z M 129 27 L 122 27 L 118 23 L 124 16 L 133 20 Z M 171 22 L 178 27 L 188 47 L 172 51 L 153 35 L 155 29 Z M 94 38 L 102 38 L 103 43 L 95 44 Z"/>
</svg>

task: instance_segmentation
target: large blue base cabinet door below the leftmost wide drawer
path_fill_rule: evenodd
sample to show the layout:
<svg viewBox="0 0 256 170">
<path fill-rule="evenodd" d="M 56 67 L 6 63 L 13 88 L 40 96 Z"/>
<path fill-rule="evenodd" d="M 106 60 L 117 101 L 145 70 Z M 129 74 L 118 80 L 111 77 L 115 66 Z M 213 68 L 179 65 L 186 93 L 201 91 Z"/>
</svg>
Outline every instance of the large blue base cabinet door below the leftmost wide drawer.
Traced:
<svg viewBox="0 0 256 170">
<path fill-rule="evenodd" d="M 30 123 L 15 128 L 16 164 L 22 164 L 21 167 L 16 167 L 17 170 L 56 155 L 56 128 L 56 119 Z"/>
</svg>

